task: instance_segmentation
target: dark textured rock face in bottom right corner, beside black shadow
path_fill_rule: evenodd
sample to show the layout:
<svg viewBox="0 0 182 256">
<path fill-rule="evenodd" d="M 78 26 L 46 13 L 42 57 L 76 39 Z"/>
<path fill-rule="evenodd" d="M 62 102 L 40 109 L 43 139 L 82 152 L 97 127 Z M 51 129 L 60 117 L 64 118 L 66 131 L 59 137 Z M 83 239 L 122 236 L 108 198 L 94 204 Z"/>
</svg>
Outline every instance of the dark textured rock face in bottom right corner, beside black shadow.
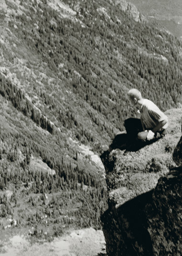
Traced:
<svg viewBox="0 0 182 256">
<path fill-rule="evenodd" d="M 159 180 L 145 212 L 152 255 L 182 255 L 182 169 Z"/>
</svg>

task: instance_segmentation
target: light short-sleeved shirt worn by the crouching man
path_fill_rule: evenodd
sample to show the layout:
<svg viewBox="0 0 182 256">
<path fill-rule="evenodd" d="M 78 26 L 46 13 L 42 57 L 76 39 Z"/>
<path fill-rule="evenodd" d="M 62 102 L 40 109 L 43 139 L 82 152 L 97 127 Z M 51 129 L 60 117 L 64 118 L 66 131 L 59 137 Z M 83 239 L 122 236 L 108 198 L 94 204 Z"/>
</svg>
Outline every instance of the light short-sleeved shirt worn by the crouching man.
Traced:
<svg viewBox="0 0 182 256">
<path fill-rule="evenodd" d="M 144 99 L 140 109 L 141 119 L 147 130 L 152 130 L 159 122 L 166 120 L 167 123 L 159 130 L 162 131 L 168 127 L 167 116 L 159 110 L 151 100 Z"/>
</svg>

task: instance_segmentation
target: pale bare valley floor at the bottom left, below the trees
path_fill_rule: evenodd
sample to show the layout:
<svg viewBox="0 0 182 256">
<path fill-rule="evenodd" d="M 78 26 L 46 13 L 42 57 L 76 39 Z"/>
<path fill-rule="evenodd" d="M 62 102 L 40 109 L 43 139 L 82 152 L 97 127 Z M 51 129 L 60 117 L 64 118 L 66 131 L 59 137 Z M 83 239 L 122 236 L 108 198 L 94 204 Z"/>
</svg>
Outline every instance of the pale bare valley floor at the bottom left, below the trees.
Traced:
<svg viewBox="0 0 182 256">
<path fill-rule="evenodd" d="M 75 230 L 52 242 L 31 244 L 25 235 L 0 241 L 0 256 L 104 256 L 105 240 L 101 230 Z"/>
</svg>

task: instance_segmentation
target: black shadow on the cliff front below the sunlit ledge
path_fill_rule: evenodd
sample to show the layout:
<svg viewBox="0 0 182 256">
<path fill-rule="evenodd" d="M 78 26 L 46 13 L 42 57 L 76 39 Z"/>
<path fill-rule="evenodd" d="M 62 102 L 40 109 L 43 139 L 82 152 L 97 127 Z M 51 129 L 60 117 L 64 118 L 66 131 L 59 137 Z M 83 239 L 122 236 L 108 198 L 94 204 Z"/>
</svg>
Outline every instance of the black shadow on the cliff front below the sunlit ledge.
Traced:
<svg viewBox="0 0 182 256">
<path fill-rule="evenodd" d="M 107 234 L 107 255 L 153 256 L 146 213 L 146 208 L 152 204 L 152 195 L 153 190 L 150 190 L 104 212 L 101 220 L 103 232 Z"/>
</svg>

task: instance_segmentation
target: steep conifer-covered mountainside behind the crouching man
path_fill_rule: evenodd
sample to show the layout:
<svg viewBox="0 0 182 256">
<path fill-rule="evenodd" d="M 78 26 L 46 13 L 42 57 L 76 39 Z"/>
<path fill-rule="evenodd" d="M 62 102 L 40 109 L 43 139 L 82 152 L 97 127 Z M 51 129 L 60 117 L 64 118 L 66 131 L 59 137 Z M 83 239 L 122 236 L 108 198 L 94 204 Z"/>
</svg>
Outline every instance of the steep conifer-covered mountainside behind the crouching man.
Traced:
<svg viewBox="0 0 182 256">
<path fill-rule="evenodd" d="M 0 227 L 101 228 L 95 157 L 135 113 L 129 88 L 182 103 L 181 42 L 124 0 L 3 0 L 0 32 Z"/>
</svg>

